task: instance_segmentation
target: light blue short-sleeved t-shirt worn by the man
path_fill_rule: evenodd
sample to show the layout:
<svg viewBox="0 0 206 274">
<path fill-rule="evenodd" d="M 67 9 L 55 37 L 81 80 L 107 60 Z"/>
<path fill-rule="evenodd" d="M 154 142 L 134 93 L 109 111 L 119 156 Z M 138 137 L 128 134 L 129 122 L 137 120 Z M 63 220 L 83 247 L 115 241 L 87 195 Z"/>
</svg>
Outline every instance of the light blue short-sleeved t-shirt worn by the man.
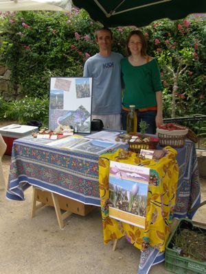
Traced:
<svg viewBox="0 0 206 274">
<path fill-rule="evenodd" d="M 121 69 L 122 54 L 111 52 L 109 56 L 99 53 L 84 64 L 84 77 L 93 77 L 92 114 L 121 113 Z"/>
</svg>

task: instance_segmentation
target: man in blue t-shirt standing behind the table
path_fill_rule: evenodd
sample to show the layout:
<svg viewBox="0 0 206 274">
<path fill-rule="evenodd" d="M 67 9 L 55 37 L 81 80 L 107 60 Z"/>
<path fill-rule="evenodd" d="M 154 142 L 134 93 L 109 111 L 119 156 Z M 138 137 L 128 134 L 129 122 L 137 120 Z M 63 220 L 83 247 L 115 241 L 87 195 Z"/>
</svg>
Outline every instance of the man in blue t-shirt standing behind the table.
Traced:
<svg viewBox="0 0 206 274">
<path fill-rule="evenodd" d="M 103 27 L 95 32 L 99 53 L 84 64 L 84 77 L 93 77 L 92 119 L 101 119 L 104 128 L 121 129 L 122 54 L 111 51 L 113 34 Z"/>
</svg>

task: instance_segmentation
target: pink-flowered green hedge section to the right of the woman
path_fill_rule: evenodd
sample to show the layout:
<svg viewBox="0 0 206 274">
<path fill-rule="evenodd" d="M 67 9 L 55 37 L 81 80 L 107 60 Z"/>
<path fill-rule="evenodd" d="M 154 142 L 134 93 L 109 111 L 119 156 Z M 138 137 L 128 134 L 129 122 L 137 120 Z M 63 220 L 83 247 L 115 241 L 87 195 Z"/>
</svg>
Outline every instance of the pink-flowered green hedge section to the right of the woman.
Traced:
<svg viewBox="0 0 206 274">
<path fill-rule="evenodd" d="M 206 113 L 205 23 L 203 18 L 190 16 L 144 27 L 149 53 L 155 53 L 161 68 L 165 118 Z"/>
</svg>

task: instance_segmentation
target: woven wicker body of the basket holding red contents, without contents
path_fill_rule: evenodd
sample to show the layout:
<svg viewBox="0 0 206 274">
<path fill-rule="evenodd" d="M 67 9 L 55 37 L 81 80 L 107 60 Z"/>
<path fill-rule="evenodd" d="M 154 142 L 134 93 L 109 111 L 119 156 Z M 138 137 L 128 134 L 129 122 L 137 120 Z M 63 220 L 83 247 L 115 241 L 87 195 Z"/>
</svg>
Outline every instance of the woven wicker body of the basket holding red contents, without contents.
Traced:
<svg viewBox="0 0 206 274">
<path fill-rule="evenodd" d="M 157 128 L 157 136 L 161 147 L 184 147 L 188 129 L 168 130 Z"/>
</svg>

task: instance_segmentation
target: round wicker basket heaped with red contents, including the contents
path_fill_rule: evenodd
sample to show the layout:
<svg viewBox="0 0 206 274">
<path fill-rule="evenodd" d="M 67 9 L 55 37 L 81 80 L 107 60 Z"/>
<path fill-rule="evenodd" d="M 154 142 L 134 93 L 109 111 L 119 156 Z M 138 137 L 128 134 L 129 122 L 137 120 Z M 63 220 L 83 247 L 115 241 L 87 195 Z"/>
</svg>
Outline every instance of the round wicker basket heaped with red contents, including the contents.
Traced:
<svg viewBox="0 0 206 274">
<path fill-rule="evenodd" d="M 157 136 L 161 147 L 184 147 L 187 133 L 187 127 L 173 123 L 168 123 L 157 127 Z"/>
</svg>

